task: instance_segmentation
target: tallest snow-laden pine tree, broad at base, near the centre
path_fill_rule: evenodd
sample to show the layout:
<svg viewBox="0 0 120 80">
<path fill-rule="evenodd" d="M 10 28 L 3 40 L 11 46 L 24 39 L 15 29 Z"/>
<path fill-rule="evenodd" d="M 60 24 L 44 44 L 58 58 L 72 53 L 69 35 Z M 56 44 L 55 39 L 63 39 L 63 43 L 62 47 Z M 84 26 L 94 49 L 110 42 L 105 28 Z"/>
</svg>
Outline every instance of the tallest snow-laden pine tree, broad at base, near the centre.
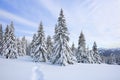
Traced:
<svg viewBox="0 0 120 80">
<path fill-rule="evenodd" d="M 59 64 L 64 66 L 67 64 L 75 63 L 76 58 L 72 55 L 71 48 L 68 45 L 69 33 L 66 27 L 66 21 L 62 9 L 58 18 L 58 25 L 55 28 L 55 43 L 53 47 L 53 54 L 51 56 L 51 62 L 53 64 Z"/>
</svg>

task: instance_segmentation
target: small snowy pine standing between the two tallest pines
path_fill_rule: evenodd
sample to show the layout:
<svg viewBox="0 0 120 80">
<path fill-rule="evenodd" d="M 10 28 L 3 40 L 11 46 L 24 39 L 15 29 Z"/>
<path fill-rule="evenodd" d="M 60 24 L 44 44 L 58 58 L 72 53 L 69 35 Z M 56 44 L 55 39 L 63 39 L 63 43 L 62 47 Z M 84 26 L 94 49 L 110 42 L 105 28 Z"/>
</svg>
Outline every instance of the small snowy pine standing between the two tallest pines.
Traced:
<svg viewBox="0 0 120 80">
<path fill-rule="evenodd" d="M 46 42 L 46 46 L 47 46 L 47 51 L 48 51 L 48 56 L 47 58 L 50 59 L 50 56 L 53 52 L 53 43 L 52 43 L 52 39 L 51 36 L 48 35 L 47 37 L 47 42 Z"/>
</svg>

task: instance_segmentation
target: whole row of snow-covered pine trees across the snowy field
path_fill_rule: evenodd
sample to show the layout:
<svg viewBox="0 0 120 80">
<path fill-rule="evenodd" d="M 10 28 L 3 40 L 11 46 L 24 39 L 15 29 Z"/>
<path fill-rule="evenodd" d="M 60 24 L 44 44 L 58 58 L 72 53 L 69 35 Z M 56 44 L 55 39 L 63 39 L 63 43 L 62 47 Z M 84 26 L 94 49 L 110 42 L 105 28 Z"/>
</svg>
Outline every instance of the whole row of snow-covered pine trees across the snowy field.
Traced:
<svg viewBox="0 0 120 80">
<path fill-rule="evenodd" d="M 102 63 L 96 42 L 94 42 L 92 50 L 86 48 L 83 32 L 80 33 L 77 48 L 74 44 L 70 47 L 69 40 L 69 31 L 62 9 L 55 26 L 53 40 L 51 36 L 45 38 L 42 22 L 40 22 L 37 34 L 33 35 L 29 46 L 27 46 L 25 37 L 21 40 L 16 38 L 13 22 L 7 25 L 4 33 L 2 25 L 0 25 L 0 54 L 5 58 L 15 59 L 18 56 L 29 55 L 34 62 L 49 61 L 52 64 L 64 66 L 74 63 Z"/>
</svg>

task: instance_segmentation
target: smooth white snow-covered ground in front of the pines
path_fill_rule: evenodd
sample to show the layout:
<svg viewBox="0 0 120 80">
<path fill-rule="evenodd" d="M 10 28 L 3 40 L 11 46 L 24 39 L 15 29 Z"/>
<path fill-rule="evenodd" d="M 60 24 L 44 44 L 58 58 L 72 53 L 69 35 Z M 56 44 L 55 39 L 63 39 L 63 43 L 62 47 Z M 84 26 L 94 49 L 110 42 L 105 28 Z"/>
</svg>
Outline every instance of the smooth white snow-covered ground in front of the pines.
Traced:
<svg viewBox="0 0 120 80">
<path fill-rule="evenodd" d="M 33 63 L 28 56 L 17 60 L 0 58 L 0 80 L 34 80 L 36 74 L 44 80 L 120 80 L 120 66 L 107 64 L 57 66 Z"/>
</svg>

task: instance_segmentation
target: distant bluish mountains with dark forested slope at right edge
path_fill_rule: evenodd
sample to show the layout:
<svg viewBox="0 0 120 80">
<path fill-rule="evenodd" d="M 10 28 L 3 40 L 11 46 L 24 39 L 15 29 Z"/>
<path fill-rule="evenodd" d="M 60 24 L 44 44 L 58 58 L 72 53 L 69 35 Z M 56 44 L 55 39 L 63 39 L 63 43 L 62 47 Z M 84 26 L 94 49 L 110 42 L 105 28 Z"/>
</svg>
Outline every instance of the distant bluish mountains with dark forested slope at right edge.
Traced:
<svg viewBox="0 0 120 80">
<path fill-rule="evenodd" d="M 104 63 L 120 65 L 120 48 L 113 49 L 101 48 L 98 51 Z"/>
</svg>

